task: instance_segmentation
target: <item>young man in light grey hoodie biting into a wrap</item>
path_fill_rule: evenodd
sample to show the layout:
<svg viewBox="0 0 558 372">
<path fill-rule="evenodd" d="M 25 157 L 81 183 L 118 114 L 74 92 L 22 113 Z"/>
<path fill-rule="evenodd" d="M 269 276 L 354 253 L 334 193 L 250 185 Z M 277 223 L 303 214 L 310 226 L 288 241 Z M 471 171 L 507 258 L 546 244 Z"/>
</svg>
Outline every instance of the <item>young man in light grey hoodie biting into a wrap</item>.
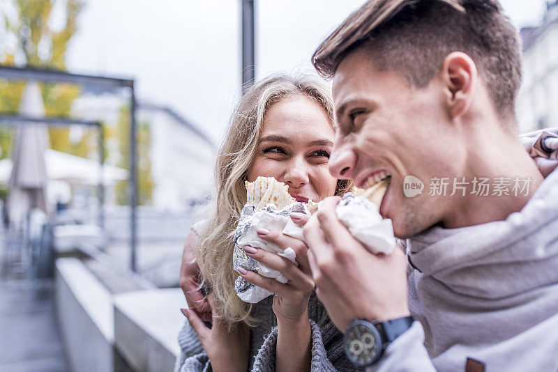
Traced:
<svg viewBox="0 0 558 372">
<path fill-rule="evenodd" d="M 499 3 L 371 0 L 312 62 L 333 77 L 331 173 L 357 187 L 388 175 L 380 213 L 406 239 L 407 260 L 371 254 L 337 199 L 306 223 L 318 297 L 354 362 L 556 371 L 558 172 L 543 179 L 518 140 L 520 42 Z"/>
</svg>

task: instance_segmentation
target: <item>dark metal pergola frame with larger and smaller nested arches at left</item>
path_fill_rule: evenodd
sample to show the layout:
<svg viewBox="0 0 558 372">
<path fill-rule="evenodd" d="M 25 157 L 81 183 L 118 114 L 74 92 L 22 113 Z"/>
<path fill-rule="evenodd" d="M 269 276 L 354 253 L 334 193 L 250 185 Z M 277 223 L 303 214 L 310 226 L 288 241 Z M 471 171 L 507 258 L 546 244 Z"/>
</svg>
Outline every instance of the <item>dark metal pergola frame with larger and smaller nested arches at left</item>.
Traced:
<svg viewBox="0 0 558 372">
<path fill-rule="evenodd" d="M 133 79 L 119 79 L 114 77 L 100 77 L 93 75 L 77 75 L 59 70 L 48 70 L 38 68 L 17 68 L 0 65 L 0 78 L 10 80 L 33 80 L 49 83 L 70 83 L 79 84 L 84 87 L 100 88 L 108 91 L 116 91 L 119 88 L 130 89 L 130 177 L 129 177 L 129 202 L 130 202 L 130 268 L 133 272 L 137 271 L 137 141 L 136 141 L 136 100 Z M 100 127 L 100 151 L 101 162 L 103 162 L 104 140 L 103 126 L 94 121 L 80 121 L 72 118 L 29 118 L 22 116 L 1 115 L 0 121 L 11 123 L 47 123 L 52 125 L 91 125 Z M 102 163 L 101 163 L 102 164 Z M 102 172 L 101 172 L 102 175 Z M 103 180 L 100 180 L 100 187 L 103 188 Z M 103 191 L 101 194 L 104 199 Z M 103 200 L 104 201 L 104 200 Z M 104 217 L 102 217 L 104 219 Z M 104 223 L 103 220 L 100 221 Z"/>
</svg>

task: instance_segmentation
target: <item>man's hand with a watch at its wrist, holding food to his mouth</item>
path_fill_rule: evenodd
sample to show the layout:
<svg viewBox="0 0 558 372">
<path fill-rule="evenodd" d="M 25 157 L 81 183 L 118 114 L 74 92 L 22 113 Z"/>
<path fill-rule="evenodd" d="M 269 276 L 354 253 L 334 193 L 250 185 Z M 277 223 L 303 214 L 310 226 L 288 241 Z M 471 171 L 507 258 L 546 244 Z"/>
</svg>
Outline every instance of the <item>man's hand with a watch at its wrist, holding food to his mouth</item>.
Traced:
<svg viewBox="0 0 558 372">
<path fill-rule="evenodd" d="M 331 320 L 345 332 L 355 318 L 390 320 L 409 316 L 405 254 L 371 254 L 335 215 L 338 198 L 325 199 L 304 224 L 316 291 Z"/>
</svg>

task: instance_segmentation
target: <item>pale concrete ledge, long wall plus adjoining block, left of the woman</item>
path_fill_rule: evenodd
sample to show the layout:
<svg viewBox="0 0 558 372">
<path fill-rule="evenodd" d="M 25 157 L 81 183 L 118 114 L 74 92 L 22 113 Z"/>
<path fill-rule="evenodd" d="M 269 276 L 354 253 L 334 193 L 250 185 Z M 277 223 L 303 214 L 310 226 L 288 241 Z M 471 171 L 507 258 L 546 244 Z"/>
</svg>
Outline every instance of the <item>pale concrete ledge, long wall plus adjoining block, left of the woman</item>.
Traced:
<svg viewBox="0 0 558 372">
<path fill-rule="evenodd" d="M 113 295 L 77 258 L 56 260 L 56 317 L 71 371 L 172 371 L 180 288 Z"/>
</svg>

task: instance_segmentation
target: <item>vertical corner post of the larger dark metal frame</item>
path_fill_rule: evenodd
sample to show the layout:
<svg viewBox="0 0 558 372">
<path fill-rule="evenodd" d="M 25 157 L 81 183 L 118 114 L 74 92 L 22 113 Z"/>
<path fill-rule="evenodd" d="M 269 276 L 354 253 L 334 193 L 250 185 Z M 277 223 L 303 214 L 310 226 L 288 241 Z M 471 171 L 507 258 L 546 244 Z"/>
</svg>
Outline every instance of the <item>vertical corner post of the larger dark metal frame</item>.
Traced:
<svg viewBox="0 0 558 372">
<path fill-rule="evenodd" d="M 135 123 L 135 91 L 131 86 L 130 98 L 130 268 L 136 272 L 136 206 L 137 206 L 137 150 L 136 150 L 136 123 Z"/>
</svg>

